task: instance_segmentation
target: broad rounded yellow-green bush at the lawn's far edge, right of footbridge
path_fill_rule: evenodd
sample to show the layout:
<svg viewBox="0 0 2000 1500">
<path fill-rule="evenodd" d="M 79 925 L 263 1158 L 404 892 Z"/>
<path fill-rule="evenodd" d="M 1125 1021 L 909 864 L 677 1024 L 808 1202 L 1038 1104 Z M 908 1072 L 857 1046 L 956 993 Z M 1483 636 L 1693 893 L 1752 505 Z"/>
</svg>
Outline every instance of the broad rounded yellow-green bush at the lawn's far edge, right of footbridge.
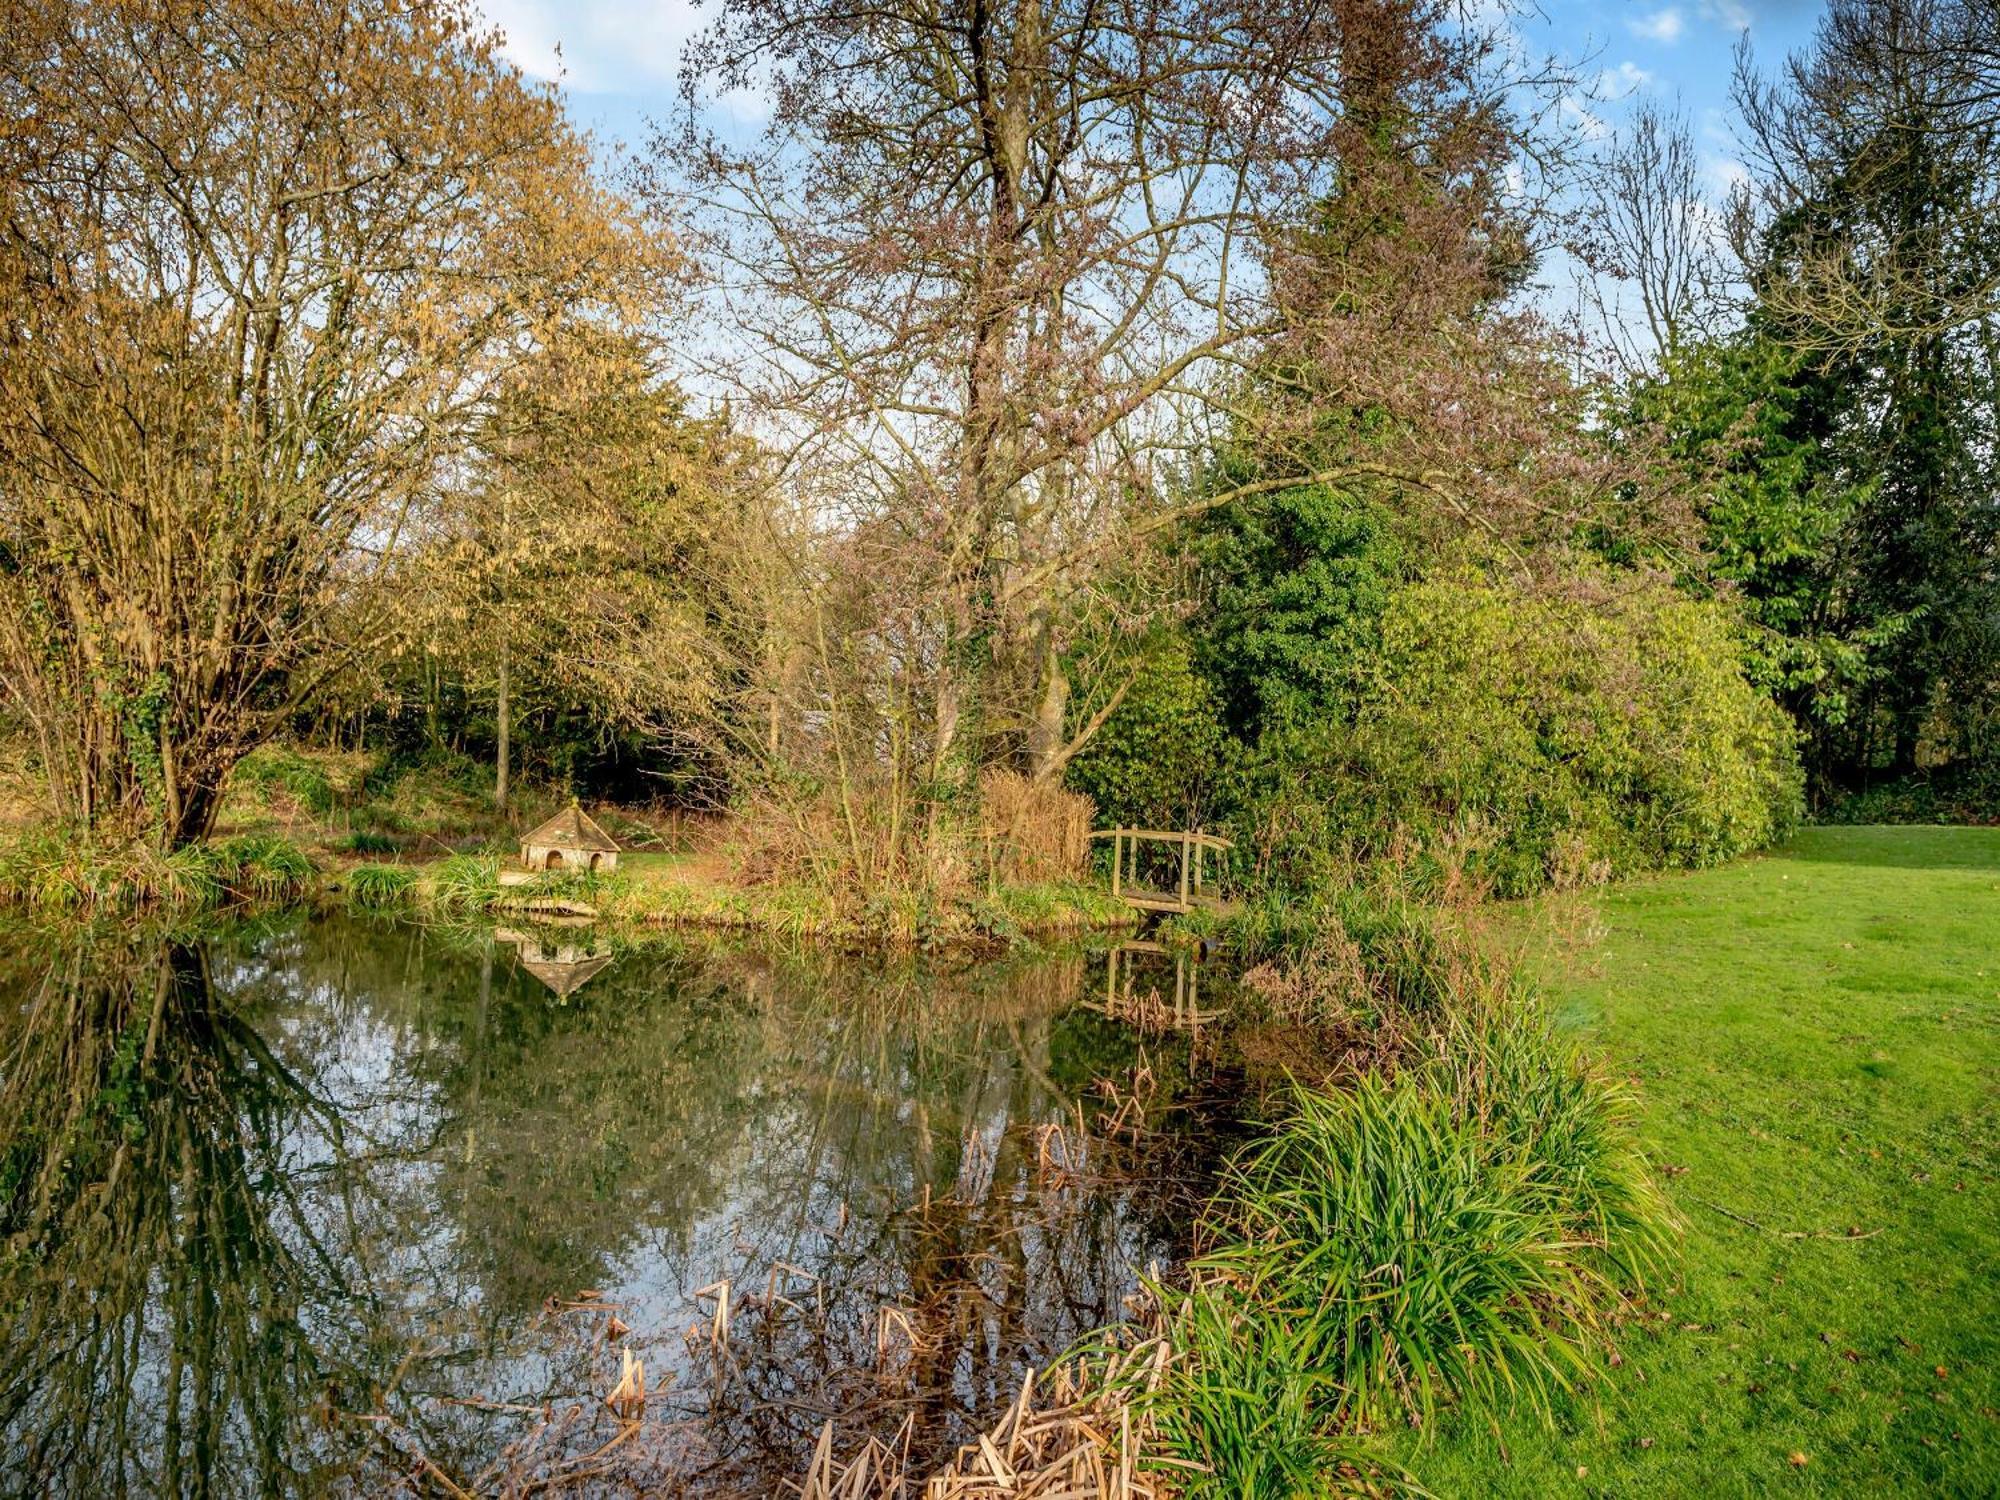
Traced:
<svg viewBox="0 0 2000 1500">
<path fill-rule="evenodd" d="M 1414 842 L 1520 894 L 1714 864 L 1796 816 L 1792 728 L 1716 604 L 1450 570 L 1398 590 L 1380 630 L 1352 722 L 1266 740 L 1246 778 L 1242 824 L 1280 888 Z"/>
</svg>

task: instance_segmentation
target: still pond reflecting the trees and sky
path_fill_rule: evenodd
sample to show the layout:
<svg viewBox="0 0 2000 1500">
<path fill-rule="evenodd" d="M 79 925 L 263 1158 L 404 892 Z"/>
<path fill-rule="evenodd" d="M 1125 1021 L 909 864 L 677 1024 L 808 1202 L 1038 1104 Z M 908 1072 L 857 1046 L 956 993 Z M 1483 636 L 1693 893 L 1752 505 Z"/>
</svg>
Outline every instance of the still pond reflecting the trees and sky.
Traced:
<svg viewBox="0 0 2000 1500">
<path fill-rule="evenodd" d="M 6 1492 L 766 1494 L 828 1420 L 940 1452 L 1186 1248 L 1230 1092 L 1158 954 L 8 936 Z"/>
</svg>

